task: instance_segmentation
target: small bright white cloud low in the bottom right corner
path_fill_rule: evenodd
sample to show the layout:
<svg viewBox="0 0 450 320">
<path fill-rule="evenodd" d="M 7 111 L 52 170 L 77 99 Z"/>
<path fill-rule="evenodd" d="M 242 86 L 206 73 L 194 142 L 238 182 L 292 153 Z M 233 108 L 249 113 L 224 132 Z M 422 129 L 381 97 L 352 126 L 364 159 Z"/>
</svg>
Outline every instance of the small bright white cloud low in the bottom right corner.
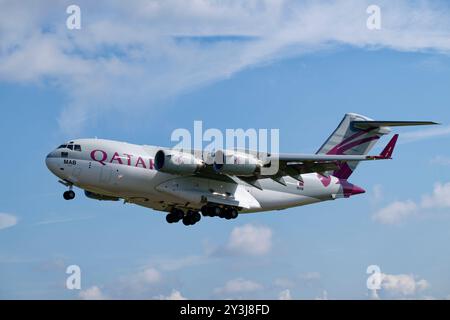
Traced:
<svg viewBox="0 0 450 320">
<path fill-rule="evenodd" d="M 424 279 L 417 280 L 414 275 L 382 274 L 381 287 L 393 296 L 411 296 L 430 286 Z"/>
</svg>

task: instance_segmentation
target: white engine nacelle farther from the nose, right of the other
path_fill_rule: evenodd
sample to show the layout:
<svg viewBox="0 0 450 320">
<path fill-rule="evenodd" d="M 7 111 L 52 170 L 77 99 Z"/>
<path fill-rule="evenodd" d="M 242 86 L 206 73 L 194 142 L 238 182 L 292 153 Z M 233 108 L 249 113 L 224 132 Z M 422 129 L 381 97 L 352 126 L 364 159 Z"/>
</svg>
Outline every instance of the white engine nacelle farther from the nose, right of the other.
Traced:
<svg viewBox="0 0 450 320">
<path fill-rule="evenodd" d="M 255 156 L 241 152 L 216 151 L 214 170 L 235 176 L 253 176 L 261 172 L 262 161 Z"/>
</svg>

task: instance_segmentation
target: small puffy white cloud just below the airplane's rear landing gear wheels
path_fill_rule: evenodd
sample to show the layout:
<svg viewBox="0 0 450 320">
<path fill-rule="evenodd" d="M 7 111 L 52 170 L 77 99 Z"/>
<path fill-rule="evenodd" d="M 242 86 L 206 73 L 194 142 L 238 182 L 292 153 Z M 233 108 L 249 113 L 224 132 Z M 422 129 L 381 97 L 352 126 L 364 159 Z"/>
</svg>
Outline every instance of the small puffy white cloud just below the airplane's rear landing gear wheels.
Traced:
<svg viewBox="0 0 450 320">
<path fill-rule="evenodd" d="M 230 234 L 227 251 L 242 255 L 265 255 L 272 248 L 272 230 L 247 224 L 235 227 Z"/>
</svg>

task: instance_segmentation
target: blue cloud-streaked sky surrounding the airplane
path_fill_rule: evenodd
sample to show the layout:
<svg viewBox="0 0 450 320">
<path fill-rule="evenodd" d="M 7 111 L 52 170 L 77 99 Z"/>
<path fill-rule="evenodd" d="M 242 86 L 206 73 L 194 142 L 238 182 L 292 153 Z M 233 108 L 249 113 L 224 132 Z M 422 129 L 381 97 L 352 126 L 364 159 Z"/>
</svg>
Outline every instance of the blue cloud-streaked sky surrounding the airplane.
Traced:
<svg viewBox="0 0 450 320">
<path fill-rule="evenodd" d="M 205 1 L 181 13 L 179 2 L 167 3 L 140 14 L 140 1 L 103 10 L 80 3 L 74 34 L 65 5 L 28 12 L 6 2 L 2 15 L 29 19 L 0 19 L 0 298 L 368 299 L 372 264 L 386 275 L 380 298 L 449 297 L 448 5 L 380 2 L 384 27 L 371 35 L 346 20 L 362 8 L 356 17 L 364 22 L 367 5 L 302 2 L 309 15 L 296 18 L 311 28 L 293 37 L 297 11 L 286 8 L 299 4 L 290 1 L 279 2 L 277 17 L 264 1 Z M 405 12 L 427 18 L 409 28 L 407 17 L 389 19 Z M 315 14 L 324 19 L 306 19 Z M 267 25 L 255 27 L 260 19 Z M 337 25 L 315 24 L 323 20 Z M 170 42 L 167 34 L 200 40 Z M 312 153 L 346 112 L 442 126 L 396 130 L 394 160 L 362 164 L 351 178 L 364 195 L 191 228 L 80 191 L 64 201 L 44 163 L 75 137 L 170 145 L 171 132 L 194 120 L 223 130 L 279 128 L 283 152 Z M 82 290 L 65 288 L 71 264 L 81 267 Z"/>
</svg>

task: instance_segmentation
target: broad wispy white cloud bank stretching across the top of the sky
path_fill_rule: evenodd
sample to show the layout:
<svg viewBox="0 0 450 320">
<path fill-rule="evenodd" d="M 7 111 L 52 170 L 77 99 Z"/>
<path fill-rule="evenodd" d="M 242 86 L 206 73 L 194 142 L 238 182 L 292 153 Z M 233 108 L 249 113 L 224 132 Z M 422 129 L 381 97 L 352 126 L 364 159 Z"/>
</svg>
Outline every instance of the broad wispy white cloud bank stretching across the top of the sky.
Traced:
<svg viewBox="0 0 450 320">
<path fill-rule="evenodd" d="M 376 32 L 366 28 L 370 0 L 77 4 L 89 19 L 75 31 L 61 19 L 65 6 L 49 0 L 3 1 L 0 12 L 0 79 L 61 88 L 66 130 L 105 111 L 152 108 L 244 68 L 335 45 L 450 51 L 448 7 L 422 1 L 378 1 Z"/>
</svg>

